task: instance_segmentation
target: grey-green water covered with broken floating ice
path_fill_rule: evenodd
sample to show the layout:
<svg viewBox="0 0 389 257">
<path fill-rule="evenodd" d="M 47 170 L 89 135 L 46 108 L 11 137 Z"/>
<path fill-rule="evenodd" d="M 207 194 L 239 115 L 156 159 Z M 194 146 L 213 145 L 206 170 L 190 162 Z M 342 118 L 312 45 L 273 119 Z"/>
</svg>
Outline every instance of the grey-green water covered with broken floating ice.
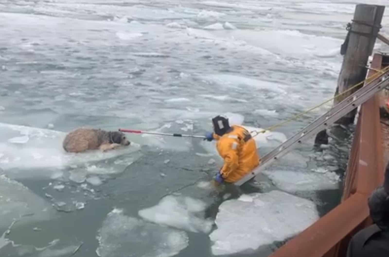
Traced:
<svg viewBox="0 0 389 257">
<path fill-rule="evenodd" d="M 79 126 L 279 123 L 333 96 L 354 6 L 0 0 L 0 255 L 270 254 L 338 203 L 350 131 L 218 190 L 214 143 L 129 134 L 128 148 L 72 155 L 61 142 Z M 260 155 L 329 107 L 256 137 Z"/>
</svg>

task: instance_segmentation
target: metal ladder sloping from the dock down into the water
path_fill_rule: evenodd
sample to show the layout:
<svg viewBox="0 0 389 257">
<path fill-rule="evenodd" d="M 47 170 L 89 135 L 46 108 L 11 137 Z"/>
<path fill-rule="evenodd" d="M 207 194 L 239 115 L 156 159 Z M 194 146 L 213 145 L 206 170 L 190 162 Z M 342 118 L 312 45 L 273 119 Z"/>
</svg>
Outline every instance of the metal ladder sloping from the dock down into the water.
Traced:
<svg viewBox="0 0 389 257">
<path fill-rule="evenodd" d="M 303 128 L 292 137 L 287 139 L 285 142 L 280 144 L 277 148 L 267 153 L 265 156 L 263 156 L 261 164 L 254 168 L 254 170 L 252 170 L 250 173 L 242 177 L 242 179 L 235 182 L 235 185 L 241 186 L 245 182 L 249 181 L 258 175 L 261 170 L 268 167 L 273 161 L 276 161 L 280 157 L 286 155 L 289 151 L 301 145 L 303 141 L 307 140 L 313 135 L 316 135 L 321 130 L 326 129 L 335 123 L 339 118 L 357 108 L 357 106 L 360 104 L 368 101 L 375 93 L 389 85 L 389 77 L 386 75 L 389 75 L 389 71 L 382 73 L 380 76 L 364 85 L 364 87 L 345 98 L 342 102 L 336 104 L 336 106 L 324 113 L 324 115 L 317 118 L 314 122 L 310 123 L 307 127 Z"/>
</svg>

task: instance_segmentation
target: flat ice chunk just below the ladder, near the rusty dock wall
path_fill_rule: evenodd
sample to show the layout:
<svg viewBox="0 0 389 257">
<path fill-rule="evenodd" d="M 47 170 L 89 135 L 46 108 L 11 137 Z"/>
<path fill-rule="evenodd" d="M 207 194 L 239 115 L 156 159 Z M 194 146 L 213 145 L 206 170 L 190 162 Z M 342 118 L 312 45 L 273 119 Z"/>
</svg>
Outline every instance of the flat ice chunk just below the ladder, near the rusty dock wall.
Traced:
<svg viewBox="0 0 389 257">
<path fill-rule="evenodd" d="M 292 170 L 264 170 L 263 173 L 278 188 L 294 193 L 298 191 L 317 191 L 337 189 L 339 176 L 335 172 L 296 172 Z"/>
</svg>

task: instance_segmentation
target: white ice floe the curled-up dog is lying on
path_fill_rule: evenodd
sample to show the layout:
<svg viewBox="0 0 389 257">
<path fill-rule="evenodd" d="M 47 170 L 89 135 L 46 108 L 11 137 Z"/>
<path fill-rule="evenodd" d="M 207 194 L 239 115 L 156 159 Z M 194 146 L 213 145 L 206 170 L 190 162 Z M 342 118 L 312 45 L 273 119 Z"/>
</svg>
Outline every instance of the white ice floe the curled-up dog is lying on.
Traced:
<svg viewBox="0 0 389 257">
<path fill-rule="evenodd" d="M 0 160 L 2 168 L 5 172 L 12 172 L 12 175 L 18 177 L 50 177 L 53 169 L 45 168 L 65 168 L 81 163 L 85 165 L 91 161 L 109 160 L 113 157 L 139 151 L 138 147 L 129 146 L 106 153 L 96 150 L 73 154 L 65 152 L 61 147 L 66 135 L 63 132 L 5 123 L 0 123 L 0 130 L 2 131 L 0 134 L 0 153 L 4 154 Z M 14 137 L 18 134 L 19 136 Z M 11 137 L 13 138 L 10 139 Z M 121 165 L 101 164 L 98 167 L 99 172 L 105 174 L 123 172 Z M 18 168 L 18 172 L 10 170 L 12 168 Z M 32 168 L 40 169 L 31 172 Z"/>
</svg>

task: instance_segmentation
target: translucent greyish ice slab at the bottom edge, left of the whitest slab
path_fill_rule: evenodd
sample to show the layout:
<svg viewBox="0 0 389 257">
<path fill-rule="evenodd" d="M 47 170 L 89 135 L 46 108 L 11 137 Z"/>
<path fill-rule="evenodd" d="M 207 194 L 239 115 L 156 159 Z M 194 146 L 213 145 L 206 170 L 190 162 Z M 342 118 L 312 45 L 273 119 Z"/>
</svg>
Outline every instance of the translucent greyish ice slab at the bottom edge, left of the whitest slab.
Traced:
<svg viewBox="0 0 389 257">
<path fill-rule="evenodd" d="M 114 209 L 103 221 L 97 236 L 100 257 L 133 256 L 170 257 L 189 244 L 184 231 L 144 222 Z"/>
</svg>

